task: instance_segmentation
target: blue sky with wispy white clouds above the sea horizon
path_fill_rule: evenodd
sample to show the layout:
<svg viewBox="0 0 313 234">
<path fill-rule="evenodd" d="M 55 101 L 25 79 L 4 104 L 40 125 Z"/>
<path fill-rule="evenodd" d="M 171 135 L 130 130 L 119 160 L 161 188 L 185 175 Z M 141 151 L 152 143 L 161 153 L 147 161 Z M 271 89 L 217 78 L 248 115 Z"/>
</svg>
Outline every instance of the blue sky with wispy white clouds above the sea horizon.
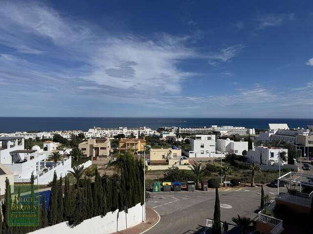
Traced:
<svg viewBox="0 0 313 234">
<path fill-rule="evenodd" d="M 0 116 L 312 117 L 312 1 L 14 1 Z"/>
</svg>

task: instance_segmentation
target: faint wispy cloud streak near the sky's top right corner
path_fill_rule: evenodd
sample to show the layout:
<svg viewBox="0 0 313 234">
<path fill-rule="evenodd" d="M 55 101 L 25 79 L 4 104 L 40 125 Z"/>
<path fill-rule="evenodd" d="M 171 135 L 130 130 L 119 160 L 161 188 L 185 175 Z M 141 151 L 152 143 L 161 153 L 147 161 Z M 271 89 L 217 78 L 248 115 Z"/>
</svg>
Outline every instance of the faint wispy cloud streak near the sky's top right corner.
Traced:
<svg viewBox="0 0 313 234">
<path fill-rule="evenodd" d="M 271 14 L 260 16 L 258 21 L 258 26 L 255 30 L 264 29 L 267 27 L 277 27 L 282 25 L 285 21 L 293 20 L 294 13 L 291 14 Z"/>
</svg>

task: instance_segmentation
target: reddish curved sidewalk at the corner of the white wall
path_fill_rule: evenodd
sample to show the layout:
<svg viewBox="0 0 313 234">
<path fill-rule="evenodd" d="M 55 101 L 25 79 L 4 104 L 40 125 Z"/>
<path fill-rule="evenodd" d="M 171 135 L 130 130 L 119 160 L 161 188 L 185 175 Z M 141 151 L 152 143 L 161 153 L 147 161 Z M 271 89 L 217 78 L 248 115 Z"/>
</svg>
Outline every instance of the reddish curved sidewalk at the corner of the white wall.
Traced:
<svg viewBox="0 0 313 234">
<path fill-rule="evenodd" d="M 146 207 L 146 222 L 128 228 L 127 234 L 140 234 L 153 227 L 159 220 L 159 215 L 151 208 Z M 112 234 L 126 234 L 126 229 L 121 230 Z"/>
</svg>

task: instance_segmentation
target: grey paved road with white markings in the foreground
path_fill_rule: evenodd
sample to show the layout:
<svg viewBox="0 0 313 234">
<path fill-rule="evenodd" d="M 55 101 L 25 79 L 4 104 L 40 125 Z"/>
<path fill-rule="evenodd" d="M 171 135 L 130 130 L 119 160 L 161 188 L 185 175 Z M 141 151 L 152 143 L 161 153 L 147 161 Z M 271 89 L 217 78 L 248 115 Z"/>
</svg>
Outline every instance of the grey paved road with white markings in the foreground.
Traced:
<svg viewBox="0 0 313 234">
<path fill-rule="evenodd" d="M 276 188 L 264 188 L 271 197 L 277 195 Z M 285 192 L 280 188 L 280 192 Z M 219 190 L 221 221 L 229 224 L 229 233 L 238 233 L 231 221 L 233 216 L 246 215 L 256 218 L 260 206 L 261 188 Z M 153 193 L 154 198 L 147 203 L 161 216 L 160 222 L 147 234 L 202 234 L 206 218 L 213 219 L 215 191 L 208 192 L 161 192 Z M 209 234 L 209 232 L 207 232 Z"/>
</svg>

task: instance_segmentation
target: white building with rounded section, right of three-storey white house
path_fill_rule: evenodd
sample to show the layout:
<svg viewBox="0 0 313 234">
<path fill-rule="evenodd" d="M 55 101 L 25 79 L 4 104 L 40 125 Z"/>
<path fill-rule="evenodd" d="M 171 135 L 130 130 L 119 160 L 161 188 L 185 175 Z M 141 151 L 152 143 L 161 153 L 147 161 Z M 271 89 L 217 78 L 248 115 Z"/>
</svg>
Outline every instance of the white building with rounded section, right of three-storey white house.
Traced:
<svg viewBox="0 0 313 234">
<path fill-rule="evenodd" d="M 222 153 L 234 153 L 243 155 L 243 151 L 248 151 L 247 141 L 233 141 L 229 138 L 216 140 L 216 150 Z"/>
</svg>

